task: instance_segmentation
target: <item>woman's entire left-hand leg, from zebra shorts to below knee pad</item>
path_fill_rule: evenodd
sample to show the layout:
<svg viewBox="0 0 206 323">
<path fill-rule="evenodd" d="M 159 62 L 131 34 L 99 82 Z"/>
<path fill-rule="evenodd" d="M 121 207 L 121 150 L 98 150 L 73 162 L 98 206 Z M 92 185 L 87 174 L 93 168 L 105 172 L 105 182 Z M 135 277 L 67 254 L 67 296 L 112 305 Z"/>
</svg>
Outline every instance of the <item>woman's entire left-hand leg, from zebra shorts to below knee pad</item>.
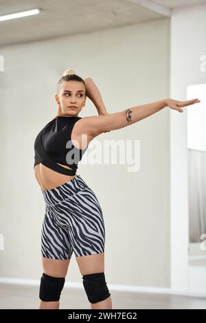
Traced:
<svg viewBox="0 0 206 323">
<path fill-rule="evenodd" d="M 52 212 L 45 214 L 41 235 L 43 276 L 39 290 L 39 309 L 59 309 L 69 259 L 73 253 L 67 227 Z"/>
</svg>

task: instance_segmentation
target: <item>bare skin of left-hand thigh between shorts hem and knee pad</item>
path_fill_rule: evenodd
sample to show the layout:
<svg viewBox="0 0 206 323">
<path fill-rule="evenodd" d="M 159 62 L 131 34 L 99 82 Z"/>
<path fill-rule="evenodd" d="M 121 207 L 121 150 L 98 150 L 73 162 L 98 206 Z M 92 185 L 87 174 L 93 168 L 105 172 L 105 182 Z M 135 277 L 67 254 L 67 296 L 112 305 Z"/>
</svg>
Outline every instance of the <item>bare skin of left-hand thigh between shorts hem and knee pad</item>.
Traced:
<svg viewBox="0 0 206 323">
<path fill-rule="evenodd" d="M 56 260 L 42 257 L 43 271 L 52 277 L 66 277 L 70 260 Z"/>
</svg>

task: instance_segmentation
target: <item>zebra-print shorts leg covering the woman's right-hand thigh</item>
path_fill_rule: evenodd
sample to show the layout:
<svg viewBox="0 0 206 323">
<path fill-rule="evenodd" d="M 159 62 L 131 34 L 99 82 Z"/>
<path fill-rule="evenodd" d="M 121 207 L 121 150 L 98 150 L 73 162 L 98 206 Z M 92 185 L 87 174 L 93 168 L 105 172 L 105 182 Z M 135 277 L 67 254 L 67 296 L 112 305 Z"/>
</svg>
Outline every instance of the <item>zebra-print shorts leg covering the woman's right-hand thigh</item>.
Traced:
<svg viewBox="0 0 206 323">
<path fill-rule="evenodd" d="M 69 203 L 69 237 L 77 257 L 104 253 L 105 229 L 100 203 L 89 188 L 75 194 Z"/>
</svg>

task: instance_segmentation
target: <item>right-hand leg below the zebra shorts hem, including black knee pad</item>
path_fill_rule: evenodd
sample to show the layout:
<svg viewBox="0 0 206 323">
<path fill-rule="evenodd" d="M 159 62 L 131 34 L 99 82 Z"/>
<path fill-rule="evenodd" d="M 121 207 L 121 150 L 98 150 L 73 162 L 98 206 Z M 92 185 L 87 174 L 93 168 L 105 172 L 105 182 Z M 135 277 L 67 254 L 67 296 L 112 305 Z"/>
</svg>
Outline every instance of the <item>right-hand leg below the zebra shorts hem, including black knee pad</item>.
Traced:
<svg viewBox="0 0 206 323">
<path fill-rule="evenodd" d="M 107 296 L 100 302 L 91 302 L 91 309 L 112 309 L 111 296 L 109 296 L 103 274 L 100 274 L 104 273 L 104 252 L 89 256 L 76 256 L 76 260 L 83 276 L 83 285 L 87 295 L 89 294 L 91 298 Z"/>
</svg>

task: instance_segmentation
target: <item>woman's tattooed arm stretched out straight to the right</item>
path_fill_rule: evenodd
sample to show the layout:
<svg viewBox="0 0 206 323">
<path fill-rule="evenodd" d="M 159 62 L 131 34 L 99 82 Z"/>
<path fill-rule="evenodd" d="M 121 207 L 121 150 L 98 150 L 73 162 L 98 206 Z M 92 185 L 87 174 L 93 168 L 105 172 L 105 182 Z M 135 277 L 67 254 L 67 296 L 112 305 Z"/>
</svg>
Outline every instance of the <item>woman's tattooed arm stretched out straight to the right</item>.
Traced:
<svg viewBox="0 0 206 323">
<path fill-rule="evenodd" d="M 90 137 L 96 137 L 105 131 L 117 130 L 134 124 L 148 116 L 161 111 L 164 107 L 183 112 L 181 107 L 200 102 L 198 99 L 189 101 L 176 101 L 165 99 L 158 102 L 131 107 L 124 111 L 111 113 L 108 115 L 97 115 L 82 118 L 80 122 L 81 133 L 86 133 Z"/>
</svg>

